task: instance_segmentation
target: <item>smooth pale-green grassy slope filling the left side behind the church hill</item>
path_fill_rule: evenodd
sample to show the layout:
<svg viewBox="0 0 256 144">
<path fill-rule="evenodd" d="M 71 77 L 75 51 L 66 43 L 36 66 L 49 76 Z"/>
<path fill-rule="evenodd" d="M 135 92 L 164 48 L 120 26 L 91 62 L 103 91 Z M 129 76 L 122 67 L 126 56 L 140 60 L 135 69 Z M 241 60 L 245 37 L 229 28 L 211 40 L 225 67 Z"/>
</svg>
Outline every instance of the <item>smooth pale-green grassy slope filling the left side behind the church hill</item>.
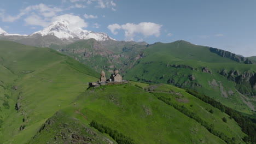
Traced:
<svg viewBox="0 0 256 144">
<path fill-rule="evenodd" d="M 97 80 L 93 70 L 54 50 L 8 41 L 0 43 L 1 73 L 14 77 L 13 80 L 0 77 L 7 86 L 4 93 L 10 95 L 10 108 L 0 106 L 3 119 L 0 143 L 30 140 L 46 119 L 69 105 L 88 87 L 87 82 Z M 15 110 L 17 101 L 21 105 L 18 111 Z M 19 130 L 21 125 L 26 128 Z"/>
</svg>

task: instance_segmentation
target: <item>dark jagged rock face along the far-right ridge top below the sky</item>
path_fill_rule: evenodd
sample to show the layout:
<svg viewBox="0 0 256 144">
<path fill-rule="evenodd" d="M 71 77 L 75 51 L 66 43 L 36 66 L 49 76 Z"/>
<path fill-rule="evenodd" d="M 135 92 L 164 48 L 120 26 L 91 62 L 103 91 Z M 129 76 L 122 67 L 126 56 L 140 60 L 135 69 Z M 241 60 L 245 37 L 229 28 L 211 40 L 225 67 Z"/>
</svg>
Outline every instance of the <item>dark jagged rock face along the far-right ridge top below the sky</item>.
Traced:
<svg viewBox="0 0 256 144">
<path fill-rule="evenodd" d="M 229 51 L 219 50 L 219 49 L 212 48 L 212 47 L 210 47 L 210 51 L 213 53 L 217 53 L 219 56 L 232 59 L 233 61 L 236 61 L 238 63 L 245 63 L 245 64 L 254 64 L 255 63 L 248 58 L 238 56 L 235 53 L 231 53 Z"/>
</svg>

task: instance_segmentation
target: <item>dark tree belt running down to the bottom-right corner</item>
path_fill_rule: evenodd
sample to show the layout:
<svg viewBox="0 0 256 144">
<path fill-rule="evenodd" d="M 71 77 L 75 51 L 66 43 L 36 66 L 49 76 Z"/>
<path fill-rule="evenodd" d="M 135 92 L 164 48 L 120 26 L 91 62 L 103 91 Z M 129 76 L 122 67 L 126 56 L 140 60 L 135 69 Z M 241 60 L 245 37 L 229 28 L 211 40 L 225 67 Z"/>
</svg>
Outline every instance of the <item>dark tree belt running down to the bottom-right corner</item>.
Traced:
<svg viewBox="0 0 256 144">
<path fill-rule="evenodd" d="M 240 125 L 242 131 L 246 133 L 248 136 L 243 138 L 245 142 L 251 142 L 252 144 L 256 144 L 256 124 L 251 121 L 251 119 L 247 118 L 246 116 L 241 115 L 241 113 L 231 109 L 228 106 L 221 104 L 220 102 L 206 96 L 200 94 L 199 92 L 194 91 L 193 89 L 186 89 L 187 93 L 194 95 L 195 97 L 205 101 L 222 112 L 225 112 L 229 115 L 230 119 L 234 118 L 234 120 Z M 224 121 L 224 120 L 223 120 Z"/>
</svg>

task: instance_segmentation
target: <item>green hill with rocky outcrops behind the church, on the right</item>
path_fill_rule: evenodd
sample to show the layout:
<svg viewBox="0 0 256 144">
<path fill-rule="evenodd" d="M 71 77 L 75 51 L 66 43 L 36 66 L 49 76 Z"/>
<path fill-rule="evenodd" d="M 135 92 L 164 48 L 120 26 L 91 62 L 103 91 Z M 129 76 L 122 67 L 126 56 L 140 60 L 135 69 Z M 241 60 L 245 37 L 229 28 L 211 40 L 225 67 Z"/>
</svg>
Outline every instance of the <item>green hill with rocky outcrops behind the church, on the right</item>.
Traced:
<svg viewBox="0 0 256 144">
<path fill-rule="evenodd" d="M 150 45 L 144 56 L 125 79 L 193 88 L 238 111 L 250 115 L 256 111 L 255 64 L 236 62 L 210 47 L 182 40 Z"/>
</svg>

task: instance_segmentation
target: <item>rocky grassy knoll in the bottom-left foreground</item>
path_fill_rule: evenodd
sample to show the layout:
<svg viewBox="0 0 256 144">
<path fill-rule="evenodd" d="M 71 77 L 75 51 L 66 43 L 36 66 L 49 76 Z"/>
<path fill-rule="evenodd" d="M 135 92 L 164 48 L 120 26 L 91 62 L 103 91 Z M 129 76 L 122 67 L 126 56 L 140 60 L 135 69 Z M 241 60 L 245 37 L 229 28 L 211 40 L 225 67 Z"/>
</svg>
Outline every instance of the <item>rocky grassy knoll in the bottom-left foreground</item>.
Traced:
<svg viewBox="0 0 256 144">
<path fill-rule="evenodd" d="M 53 117 L 49 118 L 28 143 L 116 144 L 116 142 L 107 135 L 101 134 L 88 125 L 79 122 L 78 119 L 68 117 L 68 115 L 61 110 L 56 112 Z"/>
</svg>

